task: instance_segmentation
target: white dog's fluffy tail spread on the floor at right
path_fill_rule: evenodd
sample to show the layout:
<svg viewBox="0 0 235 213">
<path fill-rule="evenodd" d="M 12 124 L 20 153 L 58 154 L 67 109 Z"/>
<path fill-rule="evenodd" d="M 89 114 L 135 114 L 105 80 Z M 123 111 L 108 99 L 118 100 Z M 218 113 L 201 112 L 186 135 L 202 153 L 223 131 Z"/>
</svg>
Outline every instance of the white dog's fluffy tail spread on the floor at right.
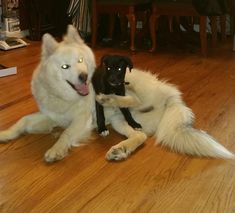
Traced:
<svg viewBox="0 0 235 213">
<path fill-rule="evenodd" d="M 234 154 L 206 132 L 192 127 L 194 115 L 180 98 L 169 98 L 156 132 L 157 143 L 173 151 L 196 156 L 234 158 Z"/>
</svg>

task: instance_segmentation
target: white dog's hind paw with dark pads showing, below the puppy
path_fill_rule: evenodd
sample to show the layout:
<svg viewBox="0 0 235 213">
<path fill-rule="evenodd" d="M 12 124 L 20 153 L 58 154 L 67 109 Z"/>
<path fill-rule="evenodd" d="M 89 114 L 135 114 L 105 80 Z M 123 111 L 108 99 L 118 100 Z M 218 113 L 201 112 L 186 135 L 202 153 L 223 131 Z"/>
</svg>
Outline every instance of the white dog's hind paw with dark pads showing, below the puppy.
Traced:
<svg viewBox="0 0 235 213">
<path fill-rule="evenodd" d="M 112 146 L 106 154 L 107 160 L 124 160 L 129 156 L 130 152 L 123 146 Z"/>
</svg>

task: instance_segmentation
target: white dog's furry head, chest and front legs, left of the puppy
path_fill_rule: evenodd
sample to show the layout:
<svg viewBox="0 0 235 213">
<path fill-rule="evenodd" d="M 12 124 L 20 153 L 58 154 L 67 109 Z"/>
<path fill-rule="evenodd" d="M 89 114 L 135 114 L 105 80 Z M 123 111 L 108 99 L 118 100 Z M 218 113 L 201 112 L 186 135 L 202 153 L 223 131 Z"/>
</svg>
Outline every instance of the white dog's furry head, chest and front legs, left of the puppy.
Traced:
<svg viewBox="0 0 235 213">
<path fill-rule="evenodd" d="M 62 66 L 68 65 L 67 69 Z M 65 128 L 58 141 L 45 154 L 45 160 L 62 159 L 71 146 L 87 139 L 92 130 L 94 96 L 91 76 L 95 59 L 91 49 L 84 44 L 74 27 L 69 26 L 66 37 L 58 43 L 49 34 L 43 36 L 42 56 L 32 78 L 32 93 L 40 112 L 27 115 L 15 125 L 0 133 L 0 141 L 8 141 L 22 133 L 51 132 L 56 126 Z M 90 94 L 80 96 L 67 82 L 80 90 L 79 75 L 87 74 Z M 85 88 L 85 89 L 84 89 Z"/>
</svg>

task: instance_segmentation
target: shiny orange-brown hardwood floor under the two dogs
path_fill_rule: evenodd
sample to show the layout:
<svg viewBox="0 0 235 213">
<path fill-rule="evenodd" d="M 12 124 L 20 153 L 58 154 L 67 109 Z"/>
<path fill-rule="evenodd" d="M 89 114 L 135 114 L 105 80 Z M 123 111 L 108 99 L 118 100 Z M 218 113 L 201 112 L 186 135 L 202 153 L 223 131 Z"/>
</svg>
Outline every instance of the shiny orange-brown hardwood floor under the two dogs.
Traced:
<svg viewBox="0 0 235 213">
<path fill-rule="evenodd" d="M 159 73 L 179 86 L 196 115 L 196 127 L 208 131 L 235 152 L 235 53 L 231 41 L 208 58 L 165 51 L 138 52 L 135 67 Z M 103 54 L 125 50 L 96 49 Z M 0 52 L 0 63 L 18 74 L 0 78 L 0 130 L 37 111 L 30 79 L 40 43 Z M 143 87 L 144 89 L 144 87 Z M 123 139 L 115 132 L 74 148 L 64 160 L 46 164 L 45 151 L 56 138 L 26 135 L 0 144 L 1 213 L 234 213 L 235 162 L 195 158 L 155 146 L 149 138 L 129 159 L 108 162 L 105 153 Z"/>
</svg>

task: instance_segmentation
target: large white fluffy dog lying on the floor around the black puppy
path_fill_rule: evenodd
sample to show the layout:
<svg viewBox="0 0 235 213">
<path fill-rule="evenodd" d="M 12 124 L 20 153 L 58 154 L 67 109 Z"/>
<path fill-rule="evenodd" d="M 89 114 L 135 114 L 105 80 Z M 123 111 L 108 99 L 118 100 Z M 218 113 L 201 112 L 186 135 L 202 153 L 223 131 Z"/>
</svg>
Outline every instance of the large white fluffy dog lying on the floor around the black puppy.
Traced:
<svg viewBox="0 0 235 213">
<path fill-rule="evenodd" d="M 53 162 L 64 158 L 71 146 L 86 140 L 95 127 L 95 95 L 90 83 L 94 69 L 92 51 L 72 26 L 60 43 L 44 35 L 41 62 L 32 78 L 32 92 L 40 112 L 25 116 L 0 132 L 0 141 L 6 142 L 22 133 L 51 132 L 60 126 L 65 130 L 46 152 L 45 160 Z M 96 97 L 106 106 L 107 122 L 127 137 L 111 147 L 106 155 L 108 160 L 127 158 L 144 143 L 146 135 L 154 136 L 156 143 L 179 153 L 234 158 L 207 133 L 193 128 L 193 113 L 185 106 L 176 87 L 137 69 L 127 72 L 126 81 L 130 83 L 127 96 L 101 94 Z M 132 115 L 141 123 L 143 131 L 130 127 L 117 107 L 132 107 Z"/>
</svg>

